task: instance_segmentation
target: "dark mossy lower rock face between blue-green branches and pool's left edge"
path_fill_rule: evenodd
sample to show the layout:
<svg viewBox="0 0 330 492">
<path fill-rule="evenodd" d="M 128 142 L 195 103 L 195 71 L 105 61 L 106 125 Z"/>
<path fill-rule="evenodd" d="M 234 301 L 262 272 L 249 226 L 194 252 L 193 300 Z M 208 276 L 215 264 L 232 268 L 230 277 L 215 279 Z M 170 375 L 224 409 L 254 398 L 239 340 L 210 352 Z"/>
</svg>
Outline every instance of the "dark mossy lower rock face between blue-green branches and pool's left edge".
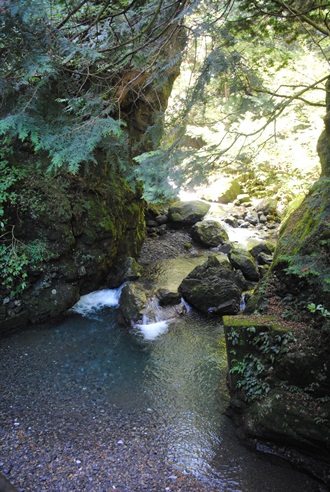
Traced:
<svg viewBox="0 0 330 492">
<path fill-rule="evenodd" d="M 145 237 L 140 195 L 115 173 L 56 181 L 31 168 L 19 199 L 15 238 L 26 251 L 27 285 L 12 295 L 0 287 L 0 333 L 60 316 L 107 282 L 118 286 L 115 266 L 136 257 Z M 6 213 L 14 222 L 16 208 Z"/>
</svg>

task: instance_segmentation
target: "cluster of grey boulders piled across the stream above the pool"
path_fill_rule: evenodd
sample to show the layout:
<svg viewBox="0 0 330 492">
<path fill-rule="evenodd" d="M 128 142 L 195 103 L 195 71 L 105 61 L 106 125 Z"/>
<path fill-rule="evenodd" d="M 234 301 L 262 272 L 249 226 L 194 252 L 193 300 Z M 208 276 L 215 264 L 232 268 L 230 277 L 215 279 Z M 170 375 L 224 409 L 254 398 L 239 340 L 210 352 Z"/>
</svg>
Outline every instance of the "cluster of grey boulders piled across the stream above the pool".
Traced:
<svg viewBox="0 0 330 492">
<path fill-rule="evenodd" d="M 205 218 L 208 209 L 209 206 L 204 207 L 203 202 L 197 201 L 178 202 L 167 212 L 153 210 L 154 220 L 147 221 L 147 225 L 149 238 L 155 238 L 151 240 L 150 251 L 159 247 L 155 260 L 166 259 L 172 248 L 166 249 L 165 245 L 168 240 L 173 240 L 177 242 L 176 256 L 182 255 L 184 250 L 188 257 L 204 255 L 205 262 L 183 279 L 177 291 L 160 288 L 153 292 L 142 285 L 136 289 L 127 284 L 120 302 L 123 321 L 130 325 L 141 322 L 148 305 L 154 302 L 152 299 L 161 306 L 169 306 L 179 305 L 182 297 L 197 310 L 220 316 L 237 314 L 242 309 L 244 293 L 253 288 L 269 268 L 274 245 L 270 241 L 258 242 L 245 250 L 236 243 L 230 243 L 224 225 Z M 185 231 L 185 236 L 181 235 L 179 226 L 181 231 Z M 183 238 L 186 242 L 180 245 Z M 182 305 L 177 309 L 178 314 L 181 314 L 181 308 Z"/>
</svg>

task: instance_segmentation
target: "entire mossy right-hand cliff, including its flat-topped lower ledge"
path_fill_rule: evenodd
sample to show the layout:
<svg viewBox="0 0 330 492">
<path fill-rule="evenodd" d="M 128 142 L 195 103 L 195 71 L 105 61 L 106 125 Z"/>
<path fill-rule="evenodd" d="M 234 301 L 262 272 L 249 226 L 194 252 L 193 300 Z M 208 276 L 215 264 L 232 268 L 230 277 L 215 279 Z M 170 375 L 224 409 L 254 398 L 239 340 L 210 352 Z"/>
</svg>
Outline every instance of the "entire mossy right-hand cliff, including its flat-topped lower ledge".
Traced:
<svg viewBox="0 0 330 492">
<path fill-rule="evenodd" d="M 230 413 L 242 435 L 257 449 L 281 456 L 329 485 L 330 131 L 327 118 L 318 149 L 322 176 L 281 227 L 269 273 L 248 302 L 245 319 L 239 327 L 233 320 L 226 320 L 226 337 L 229 353 L 236 352 L 236 358 L 229 357 Z M 272 323 L 269 318 L 268 321 L 260 318 L 260 314 L 271 316 Z M 284 335 L 274 331 L 274 320 L 284 330 L 284 346 Z"/>
</svg>

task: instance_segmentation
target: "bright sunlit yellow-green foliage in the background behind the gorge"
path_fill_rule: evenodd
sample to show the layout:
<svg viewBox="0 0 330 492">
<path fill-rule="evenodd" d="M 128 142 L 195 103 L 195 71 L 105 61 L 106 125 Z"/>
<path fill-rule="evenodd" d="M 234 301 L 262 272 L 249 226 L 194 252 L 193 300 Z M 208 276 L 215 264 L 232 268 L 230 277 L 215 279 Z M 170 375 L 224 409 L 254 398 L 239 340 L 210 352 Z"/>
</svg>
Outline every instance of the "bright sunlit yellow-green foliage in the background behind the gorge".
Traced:
<svg viewBox="0 0 330 492">
<path fill-rule="evenodd" d="M 289 180 L 283 194 L 306 191 L 306 175 L 312 182 L 320 169 L 304 131 L 311 125 L 313 139 L 321 132 L 330 46 L 328 7 L 317 4 L 305 9 L 301 2 L 238 0 L 197 7 L 187 20 L 190 36 L 181 81 L 160 149 L 166 162 L 160 170 L 163 182 L 192 189 L 227 169 L 230 174 L 260 173 L 259 166 L 269 179 L 278 180 L 288 170 L 292 173 L 296 160 L 297 179 Z M 289 132 L 294 137 L 283 157 Z M 204 144 L 192 151 L 185 133 L 202 137 Z M 299 153 L 312 161 L 312 172 L 299 169 L 301 159 L 294 157 L 298 145 Z M 150 156 L 148 161 L 149 168 L 158 165 Z M 285 187 L 284 179 L 274 189 L 280 186 Z"/>
</svg>

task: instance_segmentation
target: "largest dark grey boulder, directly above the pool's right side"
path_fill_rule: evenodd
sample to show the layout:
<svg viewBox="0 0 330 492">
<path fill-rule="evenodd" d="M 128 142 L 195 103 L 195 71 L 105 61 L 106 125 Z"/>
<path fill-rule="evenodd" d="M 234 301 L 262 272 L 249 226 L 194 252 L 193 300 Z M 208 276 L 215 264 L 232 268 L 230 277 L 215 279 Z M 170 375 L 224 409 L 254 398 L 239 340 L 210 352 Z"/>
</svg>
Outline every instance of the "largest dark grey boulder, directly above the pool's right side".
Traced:
<svg viewBox="0 0 330 492">
<path fill-rule="evenodd" d="M 242 297 L 241 280 L 213 255 L 181 282 L 179 292 L 204 313 L 237 314 Z"/>
</svg>

